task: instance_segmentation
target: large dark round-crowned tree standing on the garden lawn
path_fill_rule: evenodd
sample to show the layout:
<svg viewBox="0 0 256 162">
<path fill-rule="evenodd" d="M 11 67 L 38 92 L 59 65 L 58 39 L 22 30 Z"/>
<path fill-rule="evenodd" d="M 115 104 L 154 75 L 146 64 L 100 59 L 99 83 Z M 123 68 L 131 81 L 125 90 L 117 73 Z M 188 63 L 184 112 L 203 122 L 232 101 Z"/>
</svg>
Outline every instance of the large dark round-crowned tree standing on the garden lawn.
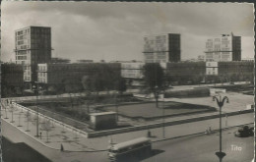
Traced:
<svg viewBox="0 0 256 162">
<path fill-rule="evenodd" d="M 150 92 L 154 93 L 156 106 L 159 107 L 160 91 L 164 90 L 164 74 L 159 63 L 147 63 L 143 67 L 144 81 Z"/>
</svg>

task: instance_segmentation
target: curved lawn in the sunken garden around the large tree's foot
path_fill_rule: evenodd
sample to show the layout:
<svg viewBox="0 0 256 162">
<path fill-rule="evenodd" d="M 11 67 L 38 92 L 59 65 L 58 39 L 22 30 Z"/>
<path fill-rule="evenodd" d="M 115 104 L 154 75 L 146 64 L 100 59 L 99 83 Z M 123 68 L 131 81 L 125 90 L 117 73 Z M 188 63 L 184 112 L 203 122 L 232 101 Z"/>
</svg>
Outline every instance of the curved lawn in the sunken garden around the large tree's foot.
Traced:
<svg viewBox="0 0 256 162">
<path fill-rule="evenodd" d="M 119 115 L 130 118 L 154 119 L 162 117 L 163 107 L 164 116 L 178 116 L 191 113 L 216 111 L 216 108 L 214 107 L 179 102 L 160 102 L 159 108 L 157 108 L 156 103 L 151 102 L 118 106 L 118 113 Z M 101 108 L 103 111 L 115 111 L 115 109 L 116 108 L 114 106 Z"/>
</svg>

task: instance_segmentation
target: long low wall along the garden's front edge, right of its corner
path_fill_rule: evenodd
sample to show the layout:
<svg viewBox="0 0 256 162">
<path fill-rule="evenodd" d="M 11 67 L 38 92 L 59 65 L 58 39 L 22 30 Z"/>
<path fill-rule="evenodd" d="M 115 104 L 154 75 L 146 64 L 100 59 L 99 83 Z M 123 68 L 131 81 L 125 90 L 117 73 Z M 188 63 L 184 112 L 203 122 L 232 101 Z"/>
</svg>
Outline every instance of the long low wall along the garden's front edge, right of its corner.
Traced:
<svg viewBox="0 0 256 162">
<path fill-rule="evenodd" d="M 228 113 L 222 114 L 222 117 L 225 117 L 225 115 L 234 116 L 234 115 L 245 114 L 245 113 L 250 113 L 250 112 L 253 112 L 253 110 L 241 110 L 241 111 L 235 111 L 235 112 L 228 112 Z M 123 129 L 88 133 L 88 138 L 104 136 L 104 135 L 115 135 L 115 134 L 129 133 L 129 132 L 142 131 L 142 130 L 148 130 L 148 129 L 155 129 L 155 128 L 160 128 L 163 125 L 164 126 L 180 125 L 180 124 L 184 124 L 184 123 L 204 121 L 204 120 L 209 120 L 209 119 L 214 119 L 214 118 L 219 118 L 219 117 L 220 117 L 219 114 L 215 114 L 215 115 L 207 115 L 207 116 L 203 116 L 203 117 L 183 119 L 183 120 L 171 121 L 171 122 L 165 122 L 165 123 L 156 123 L 156 124 L 151 124 L 151 125 L 135 126 L 135 127 L 128 127 L 128 128 L 123 128 Z"/>
</svg>

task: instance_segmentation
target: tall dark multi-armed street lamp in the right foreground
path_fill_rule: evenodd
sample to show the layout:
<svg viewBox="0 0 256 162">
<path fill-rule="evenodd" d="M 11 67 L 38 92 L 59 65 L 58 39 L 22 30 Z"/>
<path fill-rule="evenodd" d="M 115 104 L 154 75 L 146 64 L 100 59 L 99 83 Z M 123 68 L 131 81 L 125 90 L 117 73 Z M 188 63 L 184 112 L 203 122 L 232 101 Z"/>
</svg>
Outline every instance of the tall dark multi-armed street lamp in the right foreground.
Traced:
<svg viewBox="0 0 256 162">
<path fill-rule="evenodd" d="M 216 152 L 216 155 L 219 157 L 220 162 L 223 161 L 225 153 L 222 151 L 222 108 L 224 106 L 224 101 L 228 103 L 228 98 L 226 96 L 222 97 L 222 95 L 213 96 L 213 101 L 217 101 L 218 106 L 220 108 L 220 152 Z"/>
</svg>

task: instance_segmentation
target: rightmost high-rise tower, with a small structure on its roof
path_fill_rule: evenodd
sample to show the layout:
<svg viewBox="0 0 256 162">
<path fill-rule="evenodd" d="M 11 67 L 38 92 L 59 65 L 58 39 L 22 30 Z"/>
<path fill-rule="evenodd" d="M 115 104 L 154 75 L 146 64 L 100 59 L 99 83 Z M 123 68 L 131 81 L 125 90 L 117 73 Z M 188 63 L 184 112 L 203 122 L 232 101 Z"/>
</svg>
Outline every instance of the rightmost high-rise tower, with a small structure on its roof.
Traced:
<svg viewBox="0 0 256 162">
<path fill-rule="evenodd" d="M 206 42 L 207 62 L 241 61 L 241 36 L 223 34 Z"/>
</svg>

